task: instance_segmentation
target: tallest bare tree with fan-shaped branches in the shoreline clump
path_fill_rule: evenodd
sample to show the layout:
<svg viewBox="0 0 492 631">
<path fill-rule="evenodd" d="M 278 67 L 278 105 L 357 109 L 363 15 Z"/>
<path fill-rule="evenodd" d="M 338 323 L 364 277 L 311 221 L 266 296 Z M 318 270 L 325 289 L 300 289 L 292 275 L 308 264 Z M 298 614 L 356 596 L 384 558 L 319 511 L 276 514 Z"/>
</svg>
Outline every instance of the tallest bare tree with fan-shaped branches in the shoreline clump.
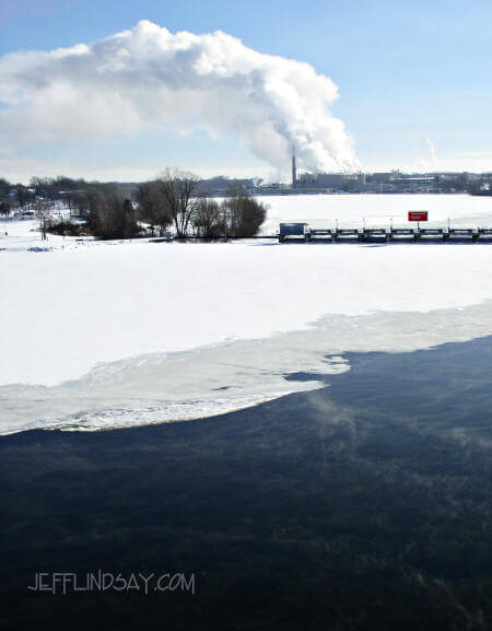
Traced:
<svg viewBox="0 0 492 631">
<path fill-rule="evenodd" d="M 167 168 L 157 183 L 173 218 L 177 236 L 186 236 L 198 205 L 198 177 L 186 171 Z"/>
</svg>

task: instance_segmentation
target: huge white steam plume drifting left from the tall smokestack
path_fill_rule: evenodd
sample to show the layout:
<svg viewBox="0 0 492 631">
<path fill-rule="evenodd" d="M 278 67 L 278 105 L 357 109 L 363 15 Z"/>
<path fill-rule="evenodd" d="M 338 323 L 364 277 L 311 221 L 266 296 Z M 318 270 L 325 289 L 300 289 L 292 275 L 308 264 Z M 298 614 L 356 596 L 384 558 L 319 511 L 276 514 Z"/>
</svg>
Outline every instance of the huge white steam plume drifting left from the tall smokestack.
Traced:
<svg viewBox="0 0 492 631">
<path fill-rule="evenodd" d="M 167 126 L 234 131 L 285 171 L 359 167 L 338 91 L 308 63 L 263 55 L 220 31 L 172 34 L 148 21 L 93 44 L 0 58 L 0 145 L 99 138 Z"/>
</svg>

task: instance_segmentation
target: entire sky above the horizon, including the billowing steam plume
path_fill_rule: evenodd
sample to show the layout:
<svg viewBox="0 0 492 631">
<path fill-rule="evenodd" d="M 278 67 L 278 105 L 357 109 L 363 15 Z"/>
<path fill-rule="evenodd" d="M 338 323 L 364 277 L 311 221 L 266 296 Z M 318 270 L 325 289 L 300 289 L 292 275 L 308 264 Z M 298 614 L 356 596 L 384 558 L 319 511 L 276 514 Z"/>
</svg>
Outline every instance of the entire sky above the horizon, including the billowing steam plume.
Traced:
<svg viewBox="0 0 492 631">
<path fill-rule="evenodd" d="M 0 0 L 0 55 L 11 180 L 492 171 L 485 0 Z"/>
</svg>

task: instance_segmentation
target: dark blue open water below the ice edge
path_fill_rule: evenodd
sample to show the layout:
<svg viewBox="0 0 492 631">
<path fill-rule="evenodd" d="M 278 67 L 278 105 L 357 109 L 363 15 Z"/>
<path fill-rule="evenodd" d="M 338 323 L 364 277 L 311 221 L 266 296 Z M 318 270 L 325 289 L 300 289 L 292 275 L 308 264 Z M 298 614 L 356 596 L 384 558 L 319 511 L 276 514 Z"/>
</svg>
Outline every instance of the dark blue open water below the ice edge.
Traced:
<svg viewBox="0 0 492 631">
<path fill-rule="evenodd" d="M 492 338 L 223 417 L 0 439 L 1 628 L 492 628 Z M 196 593 L 26 589 L 194 573 Z"/>
</svg>

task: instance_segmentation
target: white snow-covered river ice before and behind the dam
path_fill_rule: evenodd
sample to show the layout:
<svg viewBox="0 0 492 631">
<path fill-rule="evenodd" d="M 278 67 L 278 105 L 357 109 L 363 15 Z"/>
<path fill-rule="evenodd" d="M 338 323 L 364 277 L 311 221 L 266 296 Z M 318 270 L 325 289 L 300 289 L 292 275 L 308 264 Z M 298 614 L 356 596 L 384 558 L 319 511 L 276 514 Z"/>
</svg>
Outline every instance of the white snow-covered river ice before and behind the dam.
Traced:
<svg viewBox="0 0 492 631">
<path fill-rule="evenodd" d="M 341 207 L 347 222 L 423 209 L 435 221 L 492 225 L 490 198 L 265 201 L 267 232 L 280 219 L 333 221 Z M 492 334 L 489 244 L 42 242 L 36 222 L 5 226 L 2 433 L 208 416 L 319 387 L 284 376 L 349 370 L 345 351 Z"/>
</svg>

